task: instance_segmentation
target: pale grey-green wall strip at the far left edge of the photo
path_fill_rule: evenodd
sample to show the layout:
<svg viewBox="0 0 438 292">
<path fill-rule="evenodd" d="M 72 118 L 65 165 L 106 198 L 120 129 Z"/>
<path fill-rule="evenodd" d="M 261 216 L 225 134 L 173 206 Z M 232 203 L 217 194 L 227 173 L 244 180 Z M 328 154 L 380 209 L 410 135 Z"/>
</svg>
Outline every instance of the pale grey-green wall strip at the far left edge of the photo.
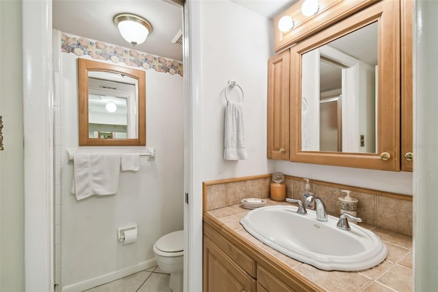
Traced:
<svg viewBox="0 0 438 292">
<path fill-rule="evenodd" d="M 21 1 L 0 1 L 0 291 L 24 291 Z"/>
</svg>

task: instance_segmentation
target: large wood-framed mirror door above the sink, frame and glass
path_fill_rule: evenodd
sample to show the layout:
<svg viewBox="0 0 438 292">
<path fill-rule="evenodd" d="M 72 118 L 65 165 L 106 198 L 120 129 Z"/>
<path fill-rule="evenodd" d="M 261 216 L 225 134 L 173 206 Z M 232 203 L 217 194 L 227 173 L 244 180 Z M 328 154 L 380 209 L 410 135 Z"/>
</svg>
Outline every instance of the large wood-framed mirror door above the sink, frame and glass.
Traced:
<svg viewBox="0 0 438 292">
<path fill-rule="evenodd" d="M 400 170 L 400 3 L 291 49 L 291 161 Z"/>
</svg>

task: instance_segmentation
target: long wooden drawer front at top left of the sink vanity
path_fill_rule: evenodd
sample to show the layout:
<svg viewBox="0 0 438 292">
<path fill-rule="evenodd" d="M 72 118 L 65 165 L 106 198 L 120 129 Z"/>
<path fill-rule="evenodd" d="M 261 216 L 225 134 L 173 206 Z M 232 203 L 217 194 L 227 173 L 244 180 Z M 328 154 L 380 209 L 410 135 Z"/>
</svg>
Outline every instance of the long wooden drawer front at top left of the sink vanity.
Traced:
<svg viewBox="0 0 438 292">
<path fill-rule="evenodd" d="M 211 229 L 210 226 L 204 223 L 204 234 L 207 236 L 215 245 L 217 245 L 224 254 L 229 255 L 233 258 L 235 263 L 239 265 L 246 273 L 250 274 L 255 278 L 256 262 L 253 258 L 250 258 L 247 254 L 242 252 L 238 247 L 229 242 L 224 236 L 218 234 L 218 232 Z"/>
</svg>

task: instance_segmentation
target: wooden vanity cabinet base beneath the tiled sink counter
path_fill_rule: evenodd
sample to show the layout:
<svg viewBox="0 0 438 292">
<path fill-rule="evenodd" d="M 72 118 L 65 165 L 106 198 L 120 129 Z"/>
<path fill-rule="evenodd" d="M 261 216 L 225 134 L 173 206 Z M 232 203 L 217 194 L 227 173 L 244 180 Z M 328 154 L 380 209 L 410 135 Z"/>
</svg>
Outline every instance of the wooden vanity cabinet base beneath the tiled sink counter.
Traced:
<svg viewBox="0 0 438 292">
<path fill-rule="evenodd" d="M 319 291 L 263 254 L 204 215 L 203 292 Z"/>
</svg>

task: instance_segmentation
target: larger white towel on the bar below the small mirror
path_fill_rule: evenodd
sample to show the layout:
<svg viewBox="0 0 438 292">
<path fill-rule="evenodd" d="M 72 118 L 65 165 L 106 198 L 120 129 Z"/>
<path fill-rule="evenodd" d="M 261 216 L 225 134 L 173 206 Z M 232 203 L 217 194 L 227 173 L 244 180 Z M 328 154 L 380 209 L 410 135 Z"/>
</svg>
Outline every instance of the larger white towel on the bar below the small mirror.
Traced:
<svg viewBox="0 0 438 292">
<path fill-rule="evenodd" d="M 76 153 L 73 157 L 76 198 L 112 195 L 118 190 L 120 154 Z"/>
</svg>

